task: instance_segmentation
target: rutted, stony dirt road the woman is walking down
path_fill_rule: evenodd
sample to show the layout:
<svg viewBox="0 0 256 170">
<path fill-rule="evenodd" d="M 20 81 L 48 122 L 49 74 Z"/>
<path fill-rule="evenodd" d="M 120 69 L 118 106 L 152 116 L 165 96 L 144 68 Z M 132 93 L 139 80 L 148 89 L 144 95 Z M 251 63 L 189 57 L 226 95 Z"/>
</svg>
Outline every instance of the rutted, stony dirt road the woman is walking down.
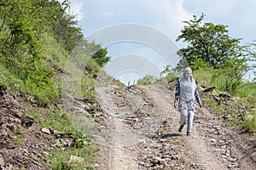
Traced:
<svg viewBox="0 0 256 170">
<path fill-rule="evenodd" d="M 173 93 L 163 85 L 96 88 L 107 124 L 96 138 L 96 169 L 256 169 L 253 140 L 206 109 L 197 109 L 191 136 L 178 133 Z"/>
</svg>

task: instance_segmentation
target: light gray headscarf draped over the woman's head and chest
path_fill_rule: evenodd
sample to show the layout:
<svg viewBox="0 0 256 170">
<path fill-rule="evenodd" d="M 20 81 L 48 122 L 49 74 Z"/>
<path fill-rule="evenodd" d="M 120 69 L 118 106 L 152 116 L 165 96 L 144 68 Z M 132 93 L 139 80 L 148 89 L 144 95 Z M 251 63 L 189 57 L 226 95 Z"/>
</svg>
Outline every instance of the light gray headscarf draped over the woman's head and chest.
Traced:
<svg viewBox="0 0 256 170">
<path fill-rule="evenodd" d="M 188 72 L 191 72 L 191 77 L 187 78 L 186 75 Z M 195 80 L 192 77 L 192 70 L 186 68 L 183 71 L 183 77 L 179 78 L 180 89 L 179 89 L 179 98 L 183 101 L 189 101 L 195 98 Z"/>
</svg>

